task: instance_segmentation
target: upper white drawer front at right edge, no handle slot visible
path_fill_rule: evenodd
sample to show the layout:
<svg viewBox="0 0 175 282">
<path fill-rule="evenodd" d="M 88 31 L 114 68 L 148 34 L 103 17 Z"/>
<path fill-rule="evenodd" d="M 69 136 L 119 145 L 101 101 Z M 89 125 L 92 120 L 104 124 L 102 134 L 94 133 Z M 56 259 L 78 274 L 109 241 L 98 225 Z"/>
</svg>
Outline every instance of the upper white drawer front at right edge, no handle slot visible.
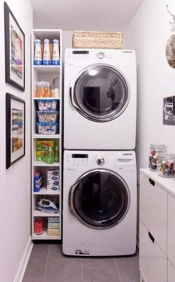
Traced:
<svg viewBox="0 0 175 282">
<path fill-rule="evenodd" d="M 173 266 L 175 266 L 175 197 L 169 193 L 168 193 L 168 259 L 172 262 Z"/>
</svg>

